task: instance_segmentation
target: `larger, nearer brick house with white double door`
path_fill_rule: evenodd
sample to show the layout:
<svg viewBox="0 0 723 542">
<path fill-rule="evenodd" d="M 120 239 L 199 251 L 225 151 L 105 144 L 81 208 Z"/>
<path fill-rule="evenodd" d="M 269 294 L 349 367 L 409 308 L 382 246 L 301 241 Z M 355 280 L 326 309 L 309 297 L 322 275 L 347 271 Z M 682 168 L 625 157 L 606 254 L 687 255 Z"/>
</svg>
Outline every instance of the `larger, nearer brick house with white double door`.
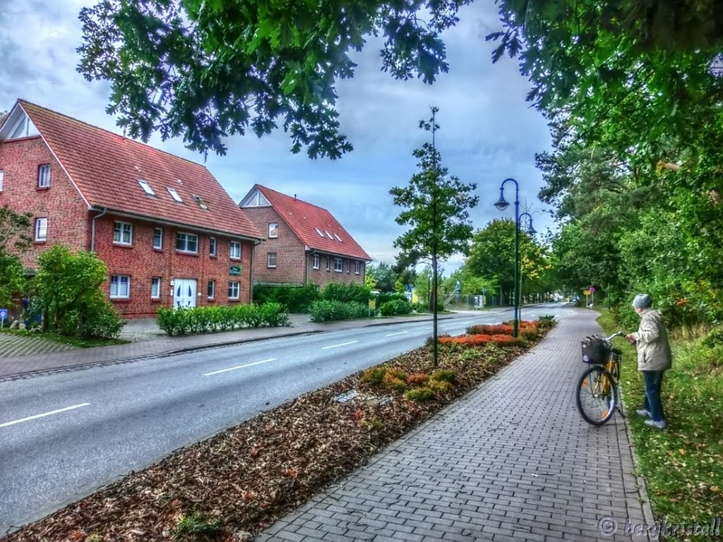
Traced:
<svg viewBox="0 0 723 542">
<path fill-rule="evenodd" d="M 33 213 L 29 275 L 54 244 L 94 251 L 124 317 L 249 303 L 247 216 L 203 165 L 18 100 L 0 121 L 0 207 Z"/>
</svg>

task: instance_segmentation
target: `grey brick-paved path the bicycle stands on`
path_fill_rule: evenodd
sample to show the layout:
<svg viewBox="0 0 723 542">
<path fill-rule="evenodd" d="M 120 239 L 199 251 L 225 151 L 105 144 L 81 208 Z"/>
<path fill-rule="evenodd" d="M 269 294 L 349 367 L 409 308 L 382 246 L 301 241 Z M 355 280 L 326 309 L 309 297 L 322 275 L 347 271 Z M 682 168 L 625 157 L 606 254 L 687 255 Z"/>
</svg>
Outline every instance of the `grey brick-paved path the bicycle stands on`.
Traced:
<svg viewBox="0 0 723 542">
<path fill-rule="evenodd" d="M 626 518 L 643 523 L 649 508 L 644 514 L 623 416 L 589 426 L 573 395 L 584 369 L 580 341 L 599 332 L 596 316 L 563 320 L 478 390 L 257 541 L 630 540 Z M 630 370 L 624 360 L 623 374 Z M 598 530 L 606 516 L 618 522 L 614 535 Z"/>
</svg>

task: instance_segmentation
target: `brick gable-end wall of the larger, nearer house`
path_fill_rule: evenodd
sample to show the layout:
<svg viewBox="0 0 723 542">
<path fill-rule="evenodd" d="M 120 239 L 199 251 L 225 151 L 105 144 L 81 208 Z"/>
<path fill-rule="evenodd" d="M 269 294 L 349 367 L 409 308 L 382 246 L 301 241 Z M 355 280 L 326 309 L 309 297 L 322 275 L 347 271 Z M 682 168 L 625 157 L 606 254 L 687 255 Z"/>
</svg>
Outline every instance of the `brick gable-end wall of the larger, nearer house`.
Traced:
<svg viewBox="0 0 723 542">
<path fill-rule="evenodd" d="M 49 164 L 50 186 L 38 188 L 38 168 Z M 0 170 L 4 171 L 0 207 L 15 212 L 32 212 L 28 235 L 35 238 L 35 219 L 48 218 L 46 241 L 34 242 L 22 264 L 38 267 L 37 257 L 54 244 L 72 249 L 90 246 L 90 223 L 87 205 L 68 176 L 40 137 L 25 137 L 0 143 Z"/>
</svg>

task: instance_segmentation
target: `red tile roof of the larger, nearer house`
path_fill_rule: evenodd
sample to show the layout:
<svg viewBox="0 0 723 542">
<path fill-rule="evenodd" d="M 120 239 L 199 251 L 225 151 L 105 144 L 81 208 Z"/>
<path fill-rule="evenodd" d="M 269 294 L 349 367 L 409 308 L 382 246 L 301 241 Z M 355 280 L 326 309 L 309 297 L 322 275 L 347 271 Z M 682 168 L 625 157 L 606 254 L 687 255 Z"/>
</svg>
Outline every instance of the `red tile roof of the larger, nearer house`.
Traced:
<svg viewBox="0 0 723 542">
<path fill-rule="evenodd" d="M 92 207 L 164 220 L 231 236 L 262 238 L 204 165 L 18 100 Z M 138 184 L 146 181 L 155 196 Z M 175 202 L 174 189 L 183 199 Z M 204 210 L 194 201 L 199 196 Z"/>
</svg>

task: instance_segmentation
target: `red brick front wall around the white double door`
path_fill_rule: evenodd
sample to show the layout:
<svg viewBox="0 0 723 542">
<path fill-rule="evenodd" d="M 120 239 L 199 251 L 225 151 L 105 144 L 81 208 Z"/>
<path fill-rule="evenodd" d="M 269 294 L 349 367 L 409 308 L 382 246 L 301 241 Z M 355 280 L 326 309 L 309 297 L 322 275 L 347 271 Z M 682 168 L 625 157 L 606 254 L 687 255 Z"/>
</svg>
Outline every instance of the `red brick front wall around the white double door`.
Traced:
<svg viewBox="0 0 723 542">
<path fill-rule="evenodd" d="M 113 228 L 116 221 L 132 224 L 131 246 L 114 243 Z M 155 228 L 163 229 L 161 249 L 153 248 Z M 186 254 L 176 250 L 177 232 L 193 233 L 198 236 L 197 254 Z M 250 263 L 252 243 L 241 242 L 241 259 L 231 259 L 231 241 L 228 236 L 213 236 L 216 239 L 216 256 L 209 254 L 210 235 L 188 228 L 173 228 L 142 220 L 132 220 L 106 215 L 96 225 L 95 251 L 108 266 L 108 275 L 127 275 L 130 278 L 130 296 L 127 299 L 112 299 L 116 309 L 125 317 L 153 317 L 159 306 L 174 306 L 174 291 L 171 281 L 176 279 L 196 280 L 196 306 L 233 305 L 249 303 Z M 231 276 L 229 268 L 240 266 L 241 275 Z M 161 296 L 151 298 L 153 277 L 161 278 Z M 208 298 L 208 281 L 215 281 L 215 296 Z M 239 282 L 239 300 L 229 300 L 228 283 Z M 110 295 L 110 284 L 103 286 Z"/>
</svg>

